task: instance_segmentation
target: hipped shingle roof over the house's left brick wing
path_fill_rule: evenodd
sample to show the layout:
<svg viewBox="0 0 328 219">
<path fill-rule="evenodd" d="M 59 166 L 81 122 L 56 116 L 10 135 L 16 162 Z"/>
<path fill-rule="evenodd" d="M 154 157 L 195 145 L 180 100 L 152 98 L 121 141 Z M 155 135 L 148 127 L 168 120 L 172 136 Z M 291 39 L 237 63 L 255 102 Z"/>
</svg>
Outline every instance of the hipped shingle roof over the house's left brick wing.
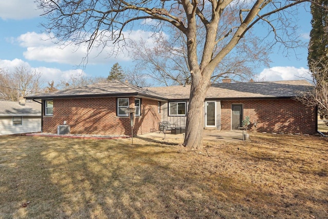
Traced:
<svg viewBox="0 0 328 219">
<path fill-rule="evenodd" d="M 67 98 L 67 97 L 101 97 L 101 96 L 146 96 L 152 98 L 166 99 L 165 96 L 140 88 L 129 83 L 116 80 L 88 85 L 84 87 L 59 90 L 52 93 L 28 96 L 27 99 Z"/>
</svg>

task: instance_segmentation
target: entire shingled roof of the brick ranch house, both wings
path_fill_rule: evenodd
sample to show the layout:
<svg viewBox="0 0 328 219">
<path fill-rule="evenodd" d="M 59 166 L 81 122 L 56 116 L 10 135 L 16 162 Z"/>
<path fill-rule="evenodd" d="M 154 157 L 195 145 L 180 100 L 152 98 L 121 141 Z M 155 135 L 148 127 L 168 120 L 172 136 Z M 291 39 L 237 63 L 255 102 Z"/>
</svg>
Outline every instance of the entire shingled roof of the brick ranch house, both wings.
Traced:
<svg viewBox="0 0 328 219">
<path fill-rule="evenodd" d="M 213 84 L 206 98 L 289 98 L 309 91 L 313 85 L 305 80 L 278 82 L 247 82 Z M 52 93 L 28 96 L 27 99 L 97 97 L 97 96 L 145 96 L 156 99 L 189 99 L 190 85 L 140 88 L 129 83 L 109 81 L 85 87 L 59 90 Z"/>
</svg>

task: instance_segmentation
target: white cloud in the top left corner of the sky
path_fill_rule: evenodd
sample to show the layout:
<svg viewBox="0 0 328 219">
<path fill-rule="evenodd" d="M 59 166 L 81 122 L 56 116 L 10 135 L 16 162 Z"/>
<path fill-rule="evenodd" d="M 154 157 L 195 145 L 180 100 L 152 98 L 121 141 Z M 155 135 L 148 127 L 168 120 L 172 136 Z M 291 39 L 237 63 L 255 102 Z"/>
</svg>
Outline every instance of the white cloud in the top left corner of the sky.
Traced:
<svg viewBox="0 0 328 219">
<path fill-rule="evenodd" d="M 2 0 L 0 1 L 0 18 L 26 19 L 37 17 L 41 14 L 37 10 L 35 0 Z"/>
</svg>

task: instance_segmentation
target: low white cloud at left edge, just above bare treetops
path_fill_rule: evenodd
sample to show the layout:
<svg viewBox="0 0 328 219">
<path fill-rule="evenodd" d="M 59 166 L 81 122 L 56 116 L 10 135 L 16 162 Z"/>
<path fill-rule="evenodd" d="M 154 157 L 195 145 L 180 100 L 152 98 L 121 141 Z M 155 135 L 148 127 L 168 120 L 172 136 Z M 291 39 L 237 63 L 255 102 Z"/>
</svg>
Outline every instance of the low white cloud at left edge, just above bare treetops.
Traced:
<svg viewBox="0 0 328 219">
<path fill-rule="evenodd" d="M 0 68 L 5 69 L 7 71 L 14 71 L 15 67 L 18 66 L 26 66 L 31 71 L 40 72 L 41 81 L 47 85 L 47 82 L 54 81 L 55 83 L 59 83 L 60 81 L 68 81 L 71 75 L 83 75 L 87 76 L 87 74 L 81 69 L 72 69 L 67 71 L 62 71 L 57 68 L 47 68 L 47 67 L 36 67 L 33 68 L 29 65 L 29 63 L 24 62 L 22 59 L 13 59 L 10 60 L 2 60 L 0 59 Z"/>
</svg>

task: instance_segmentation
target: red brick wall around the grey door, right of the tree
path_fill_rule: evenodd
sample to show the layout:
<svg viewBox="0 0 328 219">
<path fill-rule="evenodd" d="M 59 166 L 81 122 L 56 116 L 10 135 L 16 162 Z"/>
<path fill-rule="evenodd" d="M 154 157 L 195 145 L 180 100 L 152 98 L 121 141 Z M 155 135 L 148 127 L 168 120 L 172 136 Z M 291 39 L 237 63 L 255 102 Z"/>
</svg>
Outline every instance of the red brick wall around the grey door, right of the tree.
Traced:
<svg viewBox="0 0 328 219">
<path fill-rule="evenodd" d="M 221 101 L 222 130 L 231 130 L 232 104 L 243 104 L 243 116 L 250 116 L 251 130 L 308 134 L 317 131 L 315 108 L 293 99 Z M 258 122 L 256 128 L 254 121 Z"/>
</svg>

